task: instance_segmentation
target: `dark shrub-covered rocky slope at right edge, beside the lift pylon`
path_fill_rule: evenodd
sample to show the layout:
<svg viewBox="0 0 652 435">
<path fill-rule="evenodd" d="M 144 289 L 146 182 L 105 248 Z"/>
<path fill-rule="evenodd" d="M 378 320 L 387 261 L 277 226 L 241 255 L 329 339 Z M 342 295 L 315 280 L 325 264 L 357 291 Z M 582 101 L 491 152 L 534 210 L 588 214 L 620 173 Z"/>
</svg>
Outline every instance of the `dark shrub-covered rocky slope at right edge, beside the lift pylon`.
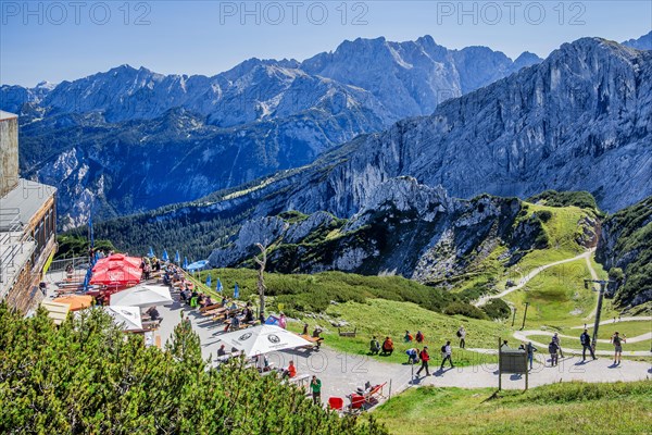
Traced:
<svg viewBox="0 0 652 435">
<path fill-rule="evenodd" d="M 616 300 L 638 306 L 652 300 L 652 197 L 623 209 L 602 223 L 595 260 L 618 281 L 610 286 Z"/>
</svg>

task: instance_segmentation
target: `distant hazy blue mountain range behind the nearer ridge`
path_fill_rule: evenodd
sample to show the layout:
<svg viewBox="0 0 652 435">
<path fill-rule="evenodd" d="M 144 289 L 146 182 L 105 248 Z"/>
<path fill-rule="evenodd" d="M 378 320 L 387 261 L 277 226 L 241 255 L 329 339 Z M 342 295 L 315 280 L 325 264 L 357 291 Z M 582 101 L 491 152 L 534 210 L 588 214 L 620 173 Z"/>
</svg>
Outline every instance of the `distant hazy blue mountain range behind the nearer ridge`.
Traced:
<svg viewBox="0 0 652 435">
<path fill-rule="evenodd" d="M 540 62 L 425 36 L 344 41 L 303 62 L 213 77 L 128 65 L 57 86 L 2 86 L 24 176 L 59 188 L 60 227 L 192 200 L 278 170 Z"/>
</svg>

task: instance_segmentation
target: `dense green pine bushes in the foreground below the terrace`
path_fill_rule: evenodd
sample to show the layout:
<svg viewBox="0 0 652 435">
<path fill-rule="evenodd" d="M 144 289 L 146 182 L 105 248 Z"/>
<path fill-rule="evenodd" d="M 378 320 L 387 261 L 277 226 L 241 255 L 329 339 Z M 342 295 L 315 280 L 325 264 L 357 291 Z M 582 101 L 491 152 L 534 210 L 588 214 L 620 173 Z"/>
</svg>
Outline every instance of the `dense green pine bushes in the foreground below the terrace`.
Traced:
<svg viewBox="0 0 652 435">
<path fill-rule="evenodd" d="M 217 371 L 180 324 L 165 351 L 101 310 L 55 327 L 0 304 L 2 434 L 385 434 L 340 419 L 241 361 Z"/>
</svg>

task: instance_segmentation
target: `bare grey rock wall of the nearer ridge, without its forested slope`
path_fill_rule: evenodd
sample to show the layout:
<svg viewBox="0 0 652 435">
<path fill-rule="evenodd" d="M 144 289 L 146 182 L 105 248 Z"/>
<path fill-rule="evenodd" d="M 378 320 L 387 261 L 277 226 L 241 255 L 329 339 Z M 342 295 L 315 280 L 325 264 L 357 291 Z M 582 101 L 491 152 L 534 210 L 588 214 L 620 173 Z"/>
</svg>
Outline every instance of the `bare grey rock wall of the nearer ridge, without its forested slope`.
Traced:
<svg viewBox="0 0 652 435">
<path fill-rule="evenodd" d="M 540 65 L 359 142 L 330 171 L 325 209 L 350 214 L 374 184 L 412 175 L 459 197 L 588 190 L 617 210 L 652 189 L 651 78 L 648 51 L 592 38 L 564 45 Z"/>
</svg>

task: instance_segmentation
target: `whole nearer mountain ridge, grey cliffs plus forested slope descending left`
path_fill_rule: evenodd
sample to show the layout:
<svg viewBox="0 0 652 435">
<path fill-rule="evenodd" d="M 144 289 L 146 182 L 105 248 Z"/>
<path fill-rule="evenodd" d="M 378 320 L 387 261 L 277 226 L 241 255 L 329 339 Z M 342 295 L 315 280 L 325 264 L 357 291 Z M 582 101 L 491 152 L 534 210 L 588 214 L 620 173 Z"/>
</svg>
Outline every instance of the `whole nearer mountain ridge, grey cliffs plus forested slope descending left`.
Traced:
<svg viewBox="0 0 652 435">
<path fill-rule="evenodd" d="M 424 188 L 442 186 L 447 197 L 588 190 L 603 210 L 616 211 L 652 195 L 651 76 L 652 52 L 582 38 L 540 64 L 442 102 L 429 116 L 359 136 L 304 167 L 100 231 L 134 249 L 153 239 L 179 246 L 184 232 L 201 234 L 193 249 L 205 256 L 238 245 L 243 223 L 265 241 L 266 229 L 252 222 L 288 210 L 350 219 L 372 210 L 369 201 L 380 207 L 378 195 L 396 202 L 393 189 L 404 183 L 392 179 L 404 176 Z"/>
</svg>

